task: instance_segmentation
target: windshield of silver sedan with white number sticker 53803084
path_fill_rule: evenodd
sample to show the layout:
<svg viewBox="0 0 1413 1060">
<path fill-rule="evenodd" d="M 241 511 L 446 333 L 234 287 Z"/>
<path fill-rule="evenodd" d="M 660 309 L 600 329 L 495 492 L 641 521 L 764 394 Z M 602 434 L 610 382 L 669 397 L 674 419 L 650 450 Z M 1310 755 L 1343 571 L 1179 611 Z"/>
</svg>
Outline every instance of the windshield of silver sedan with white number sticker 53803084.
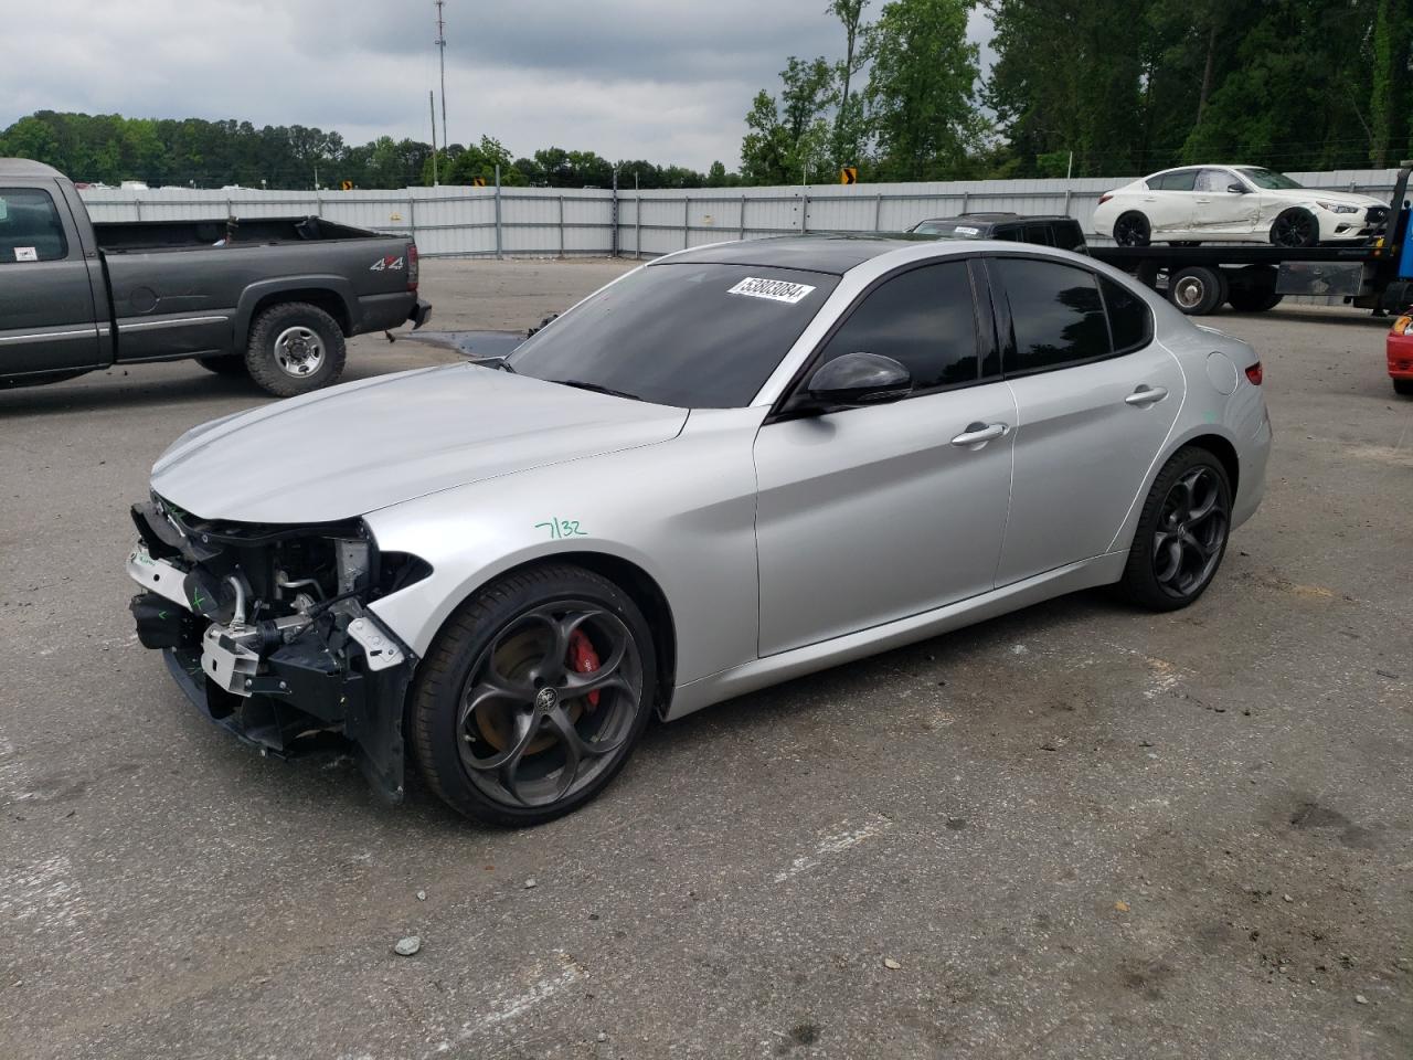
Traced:
<svg viewBox="0 0 1413 1060">
<path fill-rule="evenodd" d="M 506 363 L 654 404 L 742 408 L 838 283 L 798 269 L 654 264 L 536 332 Z"/>
</svg>

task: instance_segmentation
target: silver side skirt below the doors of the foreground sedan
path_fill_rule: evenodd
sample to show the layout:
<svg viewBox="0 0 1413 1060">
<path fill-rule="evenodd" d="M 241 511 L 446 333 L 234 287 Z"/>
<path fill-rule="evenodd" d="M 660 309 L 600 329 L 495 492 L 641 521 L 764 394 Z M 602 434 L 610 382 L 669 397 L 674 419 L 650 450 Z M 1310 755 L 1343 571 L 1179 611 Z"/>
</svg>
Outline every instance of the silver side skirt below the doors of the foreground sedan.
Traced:
<svg viewBox="0 0 1413 1060">
<path fill-rule="evenodd" d="M 745 695 L 841 663 L 866 659 L 952 629 L 985 622 L 1031 603 L 1063 596 L 1067 592 L 1111 585 L 1123 577 L 1123 565 L 1128 558 L 1128 550 L 1105 553 L 992 589 L 979 596 L 969 596 L 944 608 L 924 611 L 921 615 L 910 615 L 858 633 L 848 633 L 832 640 L 821 640 L 817 644 L 805 644 L 776 656 L 733 666 L 729 670 L 678 685 L 667 709 L 663 711 L 663 719 L 674 721 L 722 700 Z"/>
</svg>

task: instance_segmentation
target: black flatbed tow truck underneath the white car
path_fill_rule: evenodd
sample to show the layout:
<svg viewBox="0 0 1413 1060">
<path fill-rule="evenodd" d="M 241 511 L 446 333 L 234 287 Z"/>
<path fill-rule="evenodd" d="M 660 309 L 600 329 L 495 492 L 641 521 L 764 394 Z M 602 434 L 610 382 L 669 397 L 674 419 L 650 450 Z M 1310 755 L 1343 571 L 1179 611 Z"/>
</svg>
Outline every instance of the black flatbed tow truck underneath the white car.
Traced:
<svg viewBox="0 0 1413 1060">
<path fill-rule="evenodd" d="M 1253 243 L 1201 246 L 1091 246 L 1089 256 L 1132 273 L 1190 315 L 1224 302 L 1265 312 L 1287 294 L 1340 297 L 1376 314 L 1413 305 L 1413 239 L 1409 239 L 1409 172 L 1399 164 L 1383 235 L 1356 246 L 1280 247 Z"/>
</svg>

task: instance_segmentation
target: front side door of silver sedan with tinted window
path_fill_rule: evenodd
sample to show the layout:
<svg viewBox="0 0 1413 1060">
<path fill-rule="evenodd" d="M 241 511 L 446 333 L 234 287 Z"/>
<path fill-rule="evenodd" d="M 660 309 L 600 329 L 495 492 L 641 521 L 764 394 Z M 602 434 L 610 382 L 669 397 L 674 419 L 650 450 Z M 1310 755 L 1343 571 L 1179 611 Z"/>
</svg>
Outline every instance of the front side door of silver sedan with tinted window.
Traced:
<svg viewBox="0 0 1413 1060">
<path fill-rule="evenodd" d="M 907 366 L 910 397 L 776 414 L 760 428 L 762 656 L 992 588 L 1016 407 L 989 312 L 979 322 L 975 278 L 962 259 L 890 274 L 801 373 L 844 353 L 880 353 Z"/>
</svg>

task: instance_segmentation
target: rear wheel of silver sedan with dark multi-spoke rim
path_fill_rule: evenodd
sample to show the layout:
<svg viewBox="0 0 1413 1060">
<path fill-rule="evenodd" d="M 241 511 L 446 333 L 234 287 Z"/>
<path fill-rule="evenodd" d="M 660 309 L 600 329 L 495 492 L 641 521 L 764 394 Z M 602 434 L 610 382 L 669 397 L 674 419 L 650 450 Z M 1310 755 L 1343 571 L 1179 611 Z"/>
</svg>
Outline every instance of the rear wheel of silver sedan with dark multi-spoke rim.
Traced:
<svg viewBox="0 0 1413 1060">
<path fill-rule="evenodd" d="M 1178 449 L 1143 502 L 1119 591 L 1152 611 L 1193 603 L 1226 554 L 1231 510 L 1231 479 L 1222 462 L 1197 445 Z"/>
</svg>

